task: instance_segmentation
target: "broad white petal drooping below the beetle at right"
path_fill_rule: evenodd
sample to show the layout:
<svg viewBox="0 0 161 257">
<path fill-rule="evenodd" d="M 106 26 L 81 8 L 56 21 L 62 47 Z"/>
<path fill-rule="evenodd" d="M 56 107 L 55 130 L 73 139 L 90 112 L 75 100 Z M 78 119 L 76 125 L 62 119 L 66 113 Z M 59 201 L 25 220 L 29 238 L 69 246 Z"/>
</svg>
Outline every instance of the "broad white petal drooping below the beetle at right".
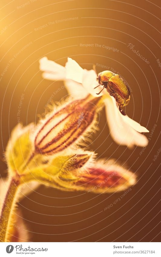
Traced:
<svg viewBox="0 0 161 257">
<path fill-rule="evenodd" d="M 109 96 L 106 98 L 105 105 L 110 133 L 116 143 L 126 145 L 129 148 L 133 147 L 134 145 L 140 147 L 147 145 L 147 138 L 138 133 L 133 129 L 133 127 L 124 121 L 122 117 L 123 115 L 120 115 L 120 111 L 114 97 Z"/>
</svg>

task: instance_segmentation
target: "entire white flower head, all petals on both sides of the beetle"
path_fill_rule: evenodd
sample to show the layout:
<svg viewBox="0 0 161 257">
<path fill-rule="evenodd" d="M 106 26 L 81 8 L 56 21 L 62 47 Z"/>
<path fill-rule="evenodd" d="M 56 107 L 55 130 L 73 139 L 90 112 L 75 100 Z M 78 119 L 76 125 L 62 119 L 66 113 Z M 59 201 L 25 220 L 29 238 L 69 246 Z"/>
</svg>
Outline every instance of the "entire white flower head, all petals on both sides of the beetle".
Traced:
<svg viewBox="0 0 161 257">
<path fill-rule="evenodd" d="M 92 94 L 95 97 L 106 95 L 107 97 L 105 97 L 104 101 L 107 121 L 114 141 L 129 148 L 134 145 L 140 147 L 147 145 L 147 137 L 141 133 L 149 131 L 127 115 L 122 115 L 116 100 L 110 96 L 106 89 L 99 95 L 97 94 L 101 91 L 102 86 L 98 86 L 97 74 L 94 70 L 82 69 L 71 58 L 68 58 L 65 67 L 63 67 L 54 61 L 48 60 L 47 57 L 40 59 L 40 70 L 43 71 L 43 77 L 46 79 L 64 81 L 68 93 L 77 99 L 86 97 L 88 94 Z M 95 88 L 96 86 L 98 87 Z"/>
</svg>

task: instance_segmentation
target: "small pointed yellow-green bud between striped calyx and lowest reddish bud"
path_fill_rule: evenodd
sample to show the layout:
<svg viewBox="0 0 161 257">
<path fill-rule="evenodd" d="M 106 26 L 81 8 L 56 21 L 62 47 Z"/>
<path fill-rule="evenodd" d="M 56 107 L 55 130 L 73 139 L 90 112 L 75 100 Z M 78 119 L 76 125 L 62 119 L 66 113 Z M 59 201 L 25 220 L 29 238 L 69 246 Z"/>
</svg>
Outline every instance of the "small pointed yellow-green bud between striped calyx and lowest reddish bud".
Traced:
<svg viewBox="0 0 161 257">
<path fill-rule="evenodd" d="M 35 167 L 30 163 L 31 169 L 21 176 L 21 183 L 37 180 L 46 185 L 56 186 L 60 181 L 65 184 L 68 184 L 69 181 L 77 181 L 82 167 L 88 163 L 92 155 L 92 152 L 78 150 L 78 154 L 73 152 L 71 155 L 51 157 L 43 165 L 40 161 L 39 165 Z"/>
</svg>

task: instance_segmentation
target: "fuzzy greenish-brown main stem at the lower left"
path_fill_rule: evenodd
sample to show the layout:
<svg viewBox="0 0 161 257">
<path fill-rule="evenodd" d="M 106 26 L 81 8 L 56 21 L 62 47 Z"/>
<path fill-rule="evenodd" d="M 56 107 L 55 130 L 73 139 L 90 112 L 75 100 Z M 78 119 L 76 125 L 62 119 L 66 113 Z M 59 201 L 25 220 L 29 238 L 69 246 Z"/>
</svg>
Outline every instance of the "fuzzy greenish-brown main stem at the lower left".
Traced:
<svg viewBox="0 0 161 257">
<path fill-rule="evenodd" d="M 0 217 L 0 242 L 7 242 L 8 230 L 12 211 L 16 203 L 16 193 L 20 181 L 16 178 L 11 178 L 8 187 L 7 194 L 2 207 L 1 217 Z"/>
</svg>

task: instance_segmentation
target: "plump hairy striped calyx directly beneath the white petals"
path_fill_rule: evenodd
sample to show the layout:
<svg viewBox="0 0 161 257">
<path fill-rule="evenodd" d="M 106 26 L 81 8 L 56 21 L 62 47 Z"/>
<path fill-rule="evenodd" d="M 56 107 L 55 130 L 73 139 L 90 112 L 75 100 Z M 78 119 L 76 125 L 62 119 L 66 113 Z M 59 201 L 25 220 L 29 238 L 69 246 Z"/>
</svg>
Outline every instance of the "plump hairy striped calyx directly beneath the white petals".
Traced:
<svg viewBox="0 0 161 257">
<path fill-rule="evenodd" d="M 78 143 L 95 124 L 101 97 L 88 96 L 58 108 L 40 125 L 36 134 L 35 152 L 53 154 Z"/>
</svg>

